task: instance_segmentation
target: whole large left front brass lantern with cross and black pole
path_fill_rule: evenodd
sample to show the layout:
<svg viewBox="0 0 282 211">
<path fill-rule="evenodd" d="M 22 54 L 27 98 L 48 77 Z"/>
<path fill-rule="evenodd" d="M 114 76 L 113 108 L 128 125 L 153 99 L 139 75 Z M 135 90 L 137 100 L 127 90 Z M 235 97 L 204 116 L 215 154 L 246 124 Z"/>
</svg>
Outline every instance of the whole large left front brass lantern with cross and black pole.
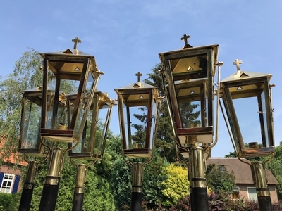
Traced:
<svg viewBox="0 0 282 211">
<path fill-rule="evenodd" d="M 40 135 L 42 140 L 56 142 L 56 147 L 51 149 L 39 210 L 55 210 L 65 152 L 78 146 L 99 76 L 104 74 L 97 69 L 94 56 L 78 51 L 80 39 L 72 41 L 73 49 L 40 53 L 44 59 Z M 69 110 L 67 96 L 73 93 L 76 98 Z M 67 143 L 68 147 L 59 147 L 62 145 L 58 142 Z"/>
</svg>

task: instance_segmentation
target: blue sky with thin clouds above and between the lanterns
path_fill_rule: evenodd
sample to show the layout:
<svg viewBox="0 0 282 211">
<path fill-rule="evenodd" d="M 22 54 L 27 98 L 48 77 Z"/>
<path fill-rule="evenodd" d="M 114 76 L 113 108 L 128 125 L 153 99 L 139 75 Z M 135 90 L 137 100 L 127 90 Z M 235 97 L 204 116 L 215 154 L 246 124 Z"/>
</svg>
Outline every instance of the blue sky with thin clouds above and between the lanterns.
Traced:
<svg viewBox="0 0 282 211">
<path fill-rule="evenodd" d="M 221 79 L 242 70 L 272 73 L 275 141 L 282 141 L 282 1 L 243 0 L 92 0 L 1 1 L 2 79 L 27 47 L 39 52 L 73 48 L 96 58 L 104 75 L 98 89 L 116 98 L 114 89 L 136 82 L 135 73 L 147 78 L 159 63 L 159 53 L 182 48 L 180 37 L 190 34 L 192 46 L 219 44 Z M 220 115 L 219 142 L 213 157 L 233 151 Z M 248 118 L 246 117 L 246 122 Z M 245 123 L 246 123 L 245 122 Z M 252 124 L 246 129 L 252 130 Z M 111 130 L 119 133 L 117 108 Z"/>
</svg>

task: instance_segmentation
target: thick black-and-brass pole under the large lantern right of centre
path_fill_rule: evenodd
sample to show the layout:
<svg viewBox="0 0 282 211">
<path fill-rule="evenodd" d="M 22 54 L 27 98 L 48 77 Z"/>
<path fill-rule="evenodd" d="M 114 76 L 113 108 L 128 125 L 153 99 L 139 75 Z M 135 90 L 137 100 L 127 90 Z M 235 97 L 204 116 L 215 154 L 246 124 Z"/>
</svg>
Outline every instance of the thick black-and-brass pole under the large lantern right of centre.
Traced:
<svg viewBox="0 0 282 211">
<path fill-rule="evenodd" d="M 209 211 L 207 182 L 205 177 L 204 150 L 194 145 L 189 148 L 190 172 L 192 186 L 192 211 Z"/>
</svg>

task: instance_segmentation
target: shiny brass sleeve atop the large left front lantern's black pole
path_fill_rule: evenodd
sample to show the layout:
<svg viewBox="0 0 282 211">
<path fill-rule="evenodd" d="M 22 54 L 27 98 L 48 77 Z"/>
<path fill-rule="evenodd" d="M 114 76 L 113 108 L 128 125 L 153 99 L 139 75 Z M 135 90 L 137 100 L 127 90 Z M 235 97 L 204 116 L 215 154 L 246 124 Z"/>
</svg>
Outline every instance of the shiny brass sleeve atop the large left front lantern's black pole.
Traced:
<svg viewBox="0 0 282 211">
<path fill-rule="evenodd" d="M 59 176 L 63 165 L 63 150 L 61 148 L 54 148 L 51 153 L 49 163 L 49 176 Z"/>
</svg>

